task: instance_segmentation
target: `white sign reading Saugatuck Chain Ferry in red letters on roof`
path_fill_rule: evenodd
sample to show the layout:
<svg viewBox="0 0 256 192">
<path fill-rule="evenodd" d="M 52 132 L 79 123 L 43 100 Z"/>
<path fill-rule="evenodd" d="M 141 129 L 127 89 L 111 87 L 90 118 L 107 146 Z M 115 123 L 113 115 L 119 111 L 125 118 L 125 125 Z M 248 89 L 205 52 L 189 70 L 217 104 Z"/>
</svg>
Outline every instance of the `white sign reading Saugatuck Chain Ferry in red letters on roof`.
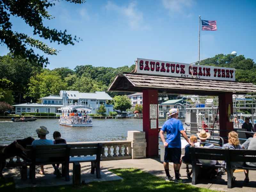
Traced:
<svg viewBox="0 0 256 192">
<path fill-rule="evenodd" d="M 137 73 L 235 81 L 235 68 L 137 58 Z"/>
</svg>

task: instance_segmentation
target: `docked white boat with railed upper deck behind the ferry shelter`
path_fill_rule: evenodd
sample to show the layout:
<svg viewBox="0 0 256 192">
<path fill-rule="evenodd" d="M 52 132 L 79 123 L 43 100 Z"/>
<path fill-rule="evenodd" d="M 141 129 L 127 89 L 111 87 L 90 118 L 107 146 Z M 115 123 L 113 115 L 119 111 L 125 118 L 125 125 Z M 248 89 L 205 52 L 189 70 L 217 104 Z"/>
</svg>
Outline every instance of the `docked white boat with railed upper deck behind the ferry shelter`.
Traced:
<svg viewBox="0 0 256 192">
<path fill-rule="evenodd" d="M 238 131 L 238 136 L 241 139 L 245 138 L 244 130 L 241 129 L 244 118 L 251 117 L 251 123 L 256 123 L 255 99 L 256 96 L 252 95 L 233 95 L 233 112 L 231 113 L 234 130 Z M 218 97 L 187 96 L 187 103 L 184 129 L 190 134 L 196 134 L 196 132 L 204 129 L 211 133 L 213 140 L 218 140 L 218 138 L 214 138 L 214 136 L 220 135 Z"/>
</svg>

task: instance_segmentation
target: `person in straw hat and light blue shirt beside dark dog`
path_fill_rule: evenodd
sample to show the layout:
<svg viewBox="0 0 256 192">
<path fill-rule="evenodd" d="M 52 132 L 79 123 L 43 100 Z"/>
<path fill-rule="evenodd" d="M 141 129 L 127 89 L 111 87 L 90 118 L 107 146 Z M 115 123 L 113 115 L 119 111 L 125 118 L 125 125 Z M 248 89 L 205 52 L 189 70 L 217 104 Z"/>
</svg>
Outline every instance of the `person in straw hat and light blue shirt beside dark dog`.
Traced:
<svg viewBox="0 0 256 192">
<path fill-rule="evenodd" d="M 34 140 L 31 145 L 53 145 L 53 140 L 46 139 L 46 135 L 49 134 L 49 131 L 45 126 L 40 126 L 39 129 L 36 129 L 37 136 L 39 140 Z M 47 158 L 36 159 L 36 161 L 47 161 Z M 44 175 L 44 165 L 40 165 L 41 171 L 38 173 Z"/>
</svg>

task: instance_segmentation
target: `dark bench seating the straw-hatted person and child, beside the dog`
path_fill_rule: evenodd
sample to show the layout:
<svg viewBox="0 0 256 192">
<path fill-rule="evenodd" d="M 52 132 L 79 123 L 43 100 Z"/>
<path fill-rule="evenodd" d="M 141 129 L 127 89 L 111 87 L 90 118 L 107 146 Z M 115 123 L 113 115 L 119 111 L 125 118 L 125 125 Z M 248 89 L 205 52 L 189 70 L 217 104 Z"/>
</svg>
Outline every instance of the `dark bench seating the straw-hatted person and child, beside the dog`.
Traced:
<svg viewBox="0 0 256 192">
<path fill-rule="evenodd" d="M 28 145 L 27 158 L 29 165 L 29 179 L 36 184 L 36 165 L 64 164 L 65 180 L 69 181 L 70 144 L 66 145 Z"/>
</svg>

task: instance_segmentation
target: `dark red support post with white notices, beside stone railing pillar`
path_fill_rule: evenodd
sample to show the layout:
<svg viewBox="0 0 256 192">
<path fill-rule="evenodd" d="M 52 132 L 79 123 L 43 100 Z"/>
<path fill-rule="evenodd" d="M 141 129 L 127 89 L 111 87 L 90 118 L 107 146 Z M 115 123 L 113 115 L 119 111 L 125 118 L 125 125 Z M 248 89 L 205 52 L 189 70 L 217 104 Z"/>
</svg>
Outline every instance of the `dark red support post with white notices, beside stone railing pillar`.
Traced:
<svg viewBox="0 0 256 192">
<path fill-rule="evenodd" d="M 156 127 L 150 127 L 150 104 L 156 104 Z M 146 133 L 146 156 L 158 156 L 158 91 L 143 90 L 143 131 Z"/>
</svg>

